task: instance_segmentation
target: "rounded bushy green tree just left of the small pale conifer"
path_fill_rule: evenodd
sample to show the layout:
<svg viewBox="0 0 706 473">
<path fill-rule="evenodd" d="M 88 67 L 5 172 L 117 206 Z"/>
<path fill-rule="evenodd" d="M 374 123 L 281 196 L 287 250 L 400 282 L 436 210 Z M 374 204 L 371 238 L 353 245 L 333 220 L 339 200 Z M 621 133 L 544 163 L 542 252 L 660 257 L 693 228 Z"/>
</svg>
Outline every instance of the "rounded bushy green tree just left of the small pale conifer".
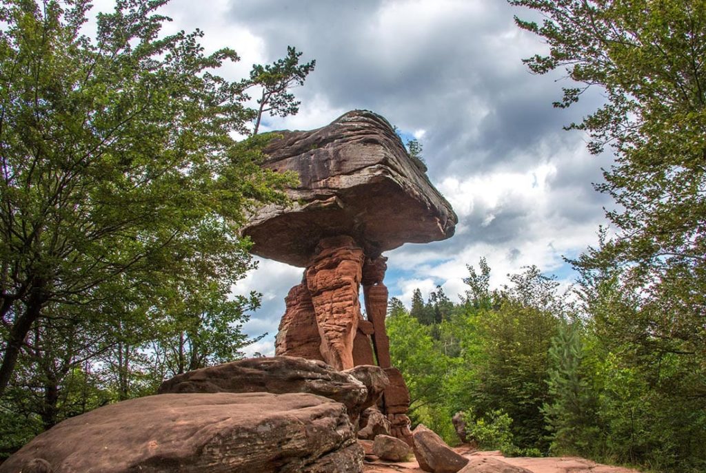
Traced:
<svg viewBox="0 0 706 473">
<path fill-rule="evenodd" d="M 548 449 L 542 406 L 549 402 L 549 348 L 568 309 L 556 281 L 535 266 L 510 276 L 510 284 L 489 291 L 490 269 L 469 266 L 465 308 L 474 328 L 463 342 L 472 367 L 465 379 L 465 410 L 473 419 L 499 411 L 512 419 L 513 444 L 520 450 Z M 462 400 L 462 395 L 456 396 Z M 492 417 L 492 416 L 491 416 Z"/>
</svg>

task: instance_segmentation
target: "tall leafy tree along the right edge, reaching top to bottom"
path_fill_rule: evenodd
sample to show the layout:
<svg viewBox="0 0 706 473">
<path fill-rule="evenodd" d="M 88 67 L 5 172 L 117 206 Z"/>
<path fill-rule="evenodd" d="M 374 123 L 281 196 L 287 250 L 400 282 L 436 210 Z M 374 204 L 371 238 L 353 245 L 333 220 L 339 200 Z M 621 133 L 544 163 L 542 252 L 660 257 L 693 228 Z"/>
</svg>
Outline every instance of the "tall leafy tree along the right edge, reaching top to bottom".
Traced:
<svg viewBox="0 0 706 473">
<path fill-rule="evenodd" d="M 613 360 L 601 376 L 607 447 L 621 461 L 699 471 L 705 453 L 688 438 L 706 435 L 706 1 L 510 4 L 544 18 L 517 20 L 549 44 L 526 61 L 530 70 L 563 68 L 575 82 L 556 106 L 590 87 L 605 97 L 568 128 L 586 131 L 592 152 L 609 145 L 615 156 L 597 189 L 615 199 L 606 216 L 616 236 L 573 262 L 589 282 L 604 360 Z M 674 414 L 662 415 L 665 405 Z M 678 440 L 659 444 L 658 435 Z"/>
</svg>

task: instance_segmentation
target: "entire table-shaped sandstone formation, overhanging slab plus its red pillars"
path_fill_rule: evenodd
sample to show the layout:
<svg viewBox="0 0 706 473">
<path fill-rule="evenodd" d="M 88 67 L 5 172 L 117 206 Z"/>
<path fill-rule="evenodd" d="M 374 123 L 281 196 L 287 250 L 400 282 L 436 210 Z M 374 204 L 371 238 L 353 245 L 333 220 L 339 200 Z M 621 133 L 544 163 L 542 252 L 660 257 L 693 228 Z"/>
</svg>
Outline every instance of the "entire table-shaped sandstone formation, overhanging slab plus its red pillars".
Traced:
<svg viewBox="0 0 706 473">
<path fill-rule="evenodd" d="M 426 166 L 376 113 L 350 111 L 317 130 L 277 134 L 265 147 L 263 166 L 298 174 L 299 185 L 287 190 L 294 204 L 264 207 L 243 230 L 253 253 L 304 267 L 301 284 L 285 298 L 276 354 L 323 360 L 339 370 L 383 368 L 390 386 L 379 407 L 391 434 L 411 445 L 409 392 L 390 365 L 385 333 L 382 252 L 450 238 L 457 216 L 429 182 Z"/>
</svg>

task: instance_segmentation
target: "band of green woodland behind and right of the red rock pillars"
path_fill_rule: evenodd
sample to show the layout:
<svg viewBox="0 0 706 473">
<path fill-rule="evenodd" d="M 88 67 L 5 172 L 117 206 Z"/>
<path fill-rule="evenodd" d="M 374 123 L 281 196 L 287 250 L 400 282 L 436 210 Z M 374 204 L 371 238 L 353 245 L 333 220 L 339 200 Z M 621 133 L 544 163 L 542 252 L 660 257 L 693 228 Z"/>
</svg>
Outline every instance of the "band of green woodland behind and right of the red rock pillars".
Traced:
<svg viewBox="0 0 706 473">
<path fill-rule="evenodd" d="M 659 472 L 706 467 L 703 365 L 686 348 L 638 331 L 645 302 L 617 278 L 583 278 L 562 290 L 530 267 L 489 287 L 484 259 L 468 289 L 441 288 L 412 307 L 390 302 L 393 364 L 421 422 L 458 443 L 505 455 L 580 455 Z"/>
</svg>

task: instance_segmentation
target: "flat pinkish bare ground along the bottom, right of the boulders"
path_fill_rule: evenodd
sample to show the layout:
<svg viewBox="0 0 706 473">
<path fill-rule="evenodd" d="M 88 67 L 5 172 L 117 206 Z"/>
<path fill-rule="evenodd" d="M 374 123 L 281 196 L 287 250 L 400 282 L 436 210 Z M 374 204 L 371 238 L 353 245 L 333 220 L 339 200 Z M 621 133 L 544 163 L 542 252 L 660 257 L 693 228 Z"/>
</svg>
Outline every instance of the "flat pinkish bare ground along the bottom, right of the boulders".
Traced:
<svg viewBox="0 0 706 473">
<path fill-rule="evenodd" d="M 532 473 L 639 473 L 636 469 L 611 467 L 580 457 L 506 458 L 500 452 L 474 452 L 463 446 L 454 448 L 465 457 L 496 457 L 509 465 L 529 469 Z M 416 461 L 385 462 L 376 457 L 366 457 L 366 473 L 425 473 Z"/>
</svg>

